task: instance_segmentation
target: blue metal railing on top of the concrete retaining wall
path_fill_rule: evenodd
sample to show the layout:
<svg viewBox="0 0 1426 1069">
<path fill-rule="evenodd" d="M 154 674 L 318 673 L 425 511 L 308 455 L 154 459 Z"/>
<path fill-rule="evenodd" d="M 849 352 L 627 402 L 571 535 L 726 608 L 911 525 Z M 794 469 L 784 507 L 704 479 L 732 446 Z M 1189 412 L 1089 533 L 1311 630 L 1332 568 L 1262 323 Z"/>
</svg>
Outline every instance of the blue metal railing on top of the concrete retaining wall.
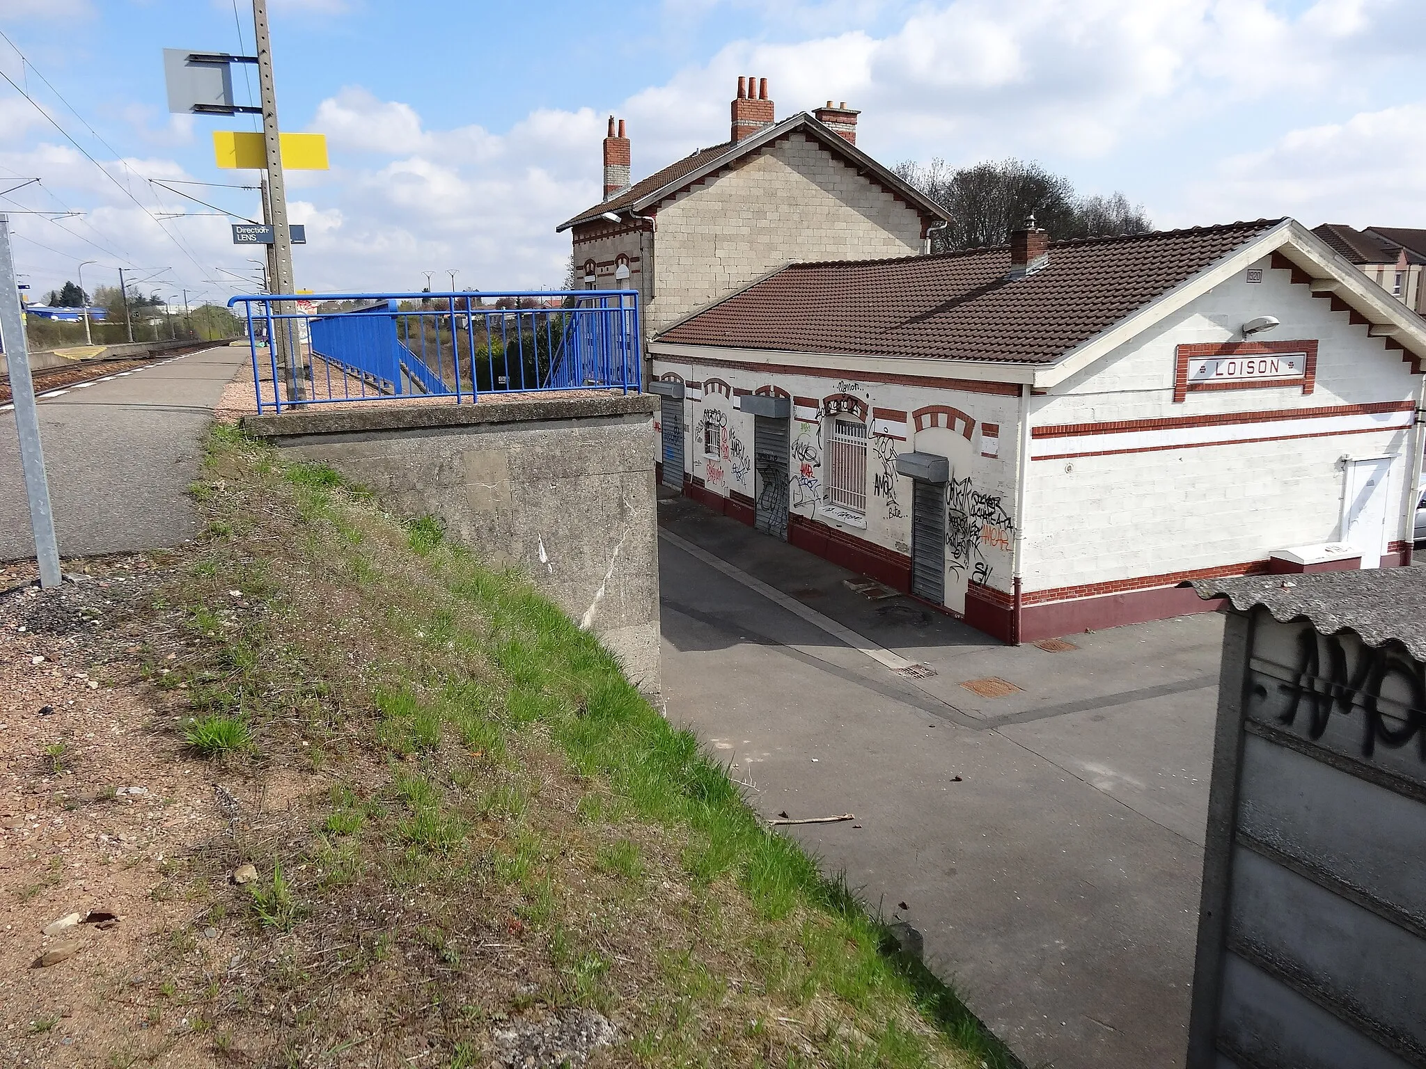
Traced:
<svg viewBox="0 0 1426 1069">
<path fill-rule="evenodd" d="M 629 289 L 262 294 L 228 301 L 237 305 L 248 328 L 258 412 L 642 388 L 639 298 Z"/>
</svg>

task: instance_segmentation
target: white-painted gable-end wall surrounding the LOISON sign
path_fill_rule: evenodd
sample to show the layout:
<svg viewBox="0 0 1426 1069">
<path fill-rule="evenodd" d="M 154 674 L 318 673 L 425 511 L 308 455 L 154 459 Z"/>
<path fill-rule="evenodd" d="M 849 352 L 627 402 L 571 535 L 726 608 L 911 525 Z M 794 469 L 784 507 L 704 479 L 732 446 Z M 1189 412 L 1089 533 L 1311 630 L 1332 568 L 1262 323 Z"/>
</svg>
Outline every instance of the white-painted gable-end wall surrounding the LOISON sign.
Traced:
<svg viewBox="0 0 1426 1069">
<path fill-rule="evenodd" d="M 1031 426 L 1198 416 L 1225 412 L 1302 409 L 1410 401 L 1410 368 L 1366 326 L 1349 324 L 1326 298 L 1271 269 L 1249 284 L 1241 274 L 1132 339 L 1105 359 L 1031 403 Z M 1191 392 L 1174 402 L 1175 346 L 1239 341 L 1239 326 L 1258 315 L 1282 325 L 1261 341 L 1316 339 L 1316 389 Z M 1397 413 L 1380 418 L 1409 422 Z M 1372 425 L 1338 420 L 1332 430 Z M 1221 438 L 1301 433 L 1301 423 L 1262 423 L 1246 432 L 1224 428 Z M 1145 445 L 1154 435 L 1138 436 Z M 1037 439 L 1031 456 L 1048 452 Z M 1403 537 L 1402 515 L 1407 432 L 1298 438 L 1114 456 L 1031 460 L 1025 497 L 1024 589 L 1027 592 L 1105 583 L 1138 576 L 1262 560 L 1272 550 L 1335 540 L 1340 533 L 1343 455 L 1399 453 L 1385 540 Z M 1383 546 L 1385 549 L 1385 546 Z"/>
</svg>

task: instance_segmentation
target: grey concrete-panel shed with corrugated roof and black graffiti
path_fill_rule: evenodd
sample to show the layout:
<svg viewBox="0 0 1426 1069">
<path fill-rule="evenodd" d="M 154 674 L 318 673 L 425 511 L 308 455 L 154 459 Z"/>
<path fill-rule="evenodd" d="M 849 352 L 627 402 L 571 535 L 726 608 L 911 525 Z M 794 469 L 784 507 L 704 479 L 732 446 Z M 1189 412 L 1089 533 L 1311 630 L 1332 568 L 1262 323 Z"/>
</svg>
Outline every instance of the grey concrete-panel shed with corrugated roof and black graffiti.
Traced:
<svg viewBox="0 0 1426 1069">
<path fill-rule="evenodd" d="M 1426 577 L 1390 572 L 1256 580 L 1301 596 L 1273 611 L 1249 580 L 1219 583 L 1241 607 L 1224 637 L 1189 1069 L 1426 1066 L 1423 659 L 1402 631 L 1352 630 L 1426 616 Z"/>
</svg>

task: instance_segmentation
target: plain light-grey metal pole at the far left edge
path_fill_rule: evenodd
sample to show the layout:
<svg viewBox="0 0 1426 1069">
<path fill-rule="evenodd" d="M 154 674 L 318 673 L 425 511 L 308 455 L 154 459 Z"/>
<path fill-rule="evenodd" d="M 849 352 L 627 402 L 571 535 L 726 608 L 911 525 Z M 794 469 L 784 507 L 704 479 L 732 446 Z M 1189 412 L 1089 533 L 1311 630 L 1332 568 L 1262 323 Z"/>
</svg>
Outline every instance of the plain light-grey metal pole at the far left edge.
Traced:
<svg viewBox="0 0 1426 1069">
<path fill-rule="evenodd" d="M 30 378 L 30 349 L 24 339 L 24 312 L 10 258 L 10 220 L 0 215 L 0 344 L 10 369 L 10 395 L 14 401 L 14 428 L 20 435 L 20 470 L 24 493 L 30 500 L 30 529 L 34 532 L 34 557 L 40 566 L 40 586 L 60 583 L 60 549 L 54 542 L 54 515 L 50 512 L 50 483 L 44 475 L 44 449 L 40 446 L 40 413 L 34 405 L 34 379 Z"/>
</svg>

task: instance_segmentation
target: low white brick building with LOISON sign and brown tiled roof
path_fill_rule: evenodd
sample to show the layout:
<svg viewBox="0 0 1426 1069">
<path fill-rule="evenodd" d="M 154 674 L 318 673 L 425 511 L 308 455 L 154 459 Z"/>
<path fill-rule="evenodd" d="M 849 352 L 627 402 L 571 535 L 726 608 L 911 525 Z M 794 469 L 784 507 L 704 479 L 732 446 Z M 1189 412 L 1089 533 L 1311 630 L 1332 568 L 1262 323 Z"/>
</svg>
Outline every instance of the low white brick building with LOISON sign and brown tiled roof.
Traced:
<svg viewBox="0 0 1426 1069">
<path fill-rule="evenodd" d="M 666 483 L 1011 641 L 1410 556 L 1426 324 L 1291 220 L 799 264 L 650 352 Z"/>
</svg>

